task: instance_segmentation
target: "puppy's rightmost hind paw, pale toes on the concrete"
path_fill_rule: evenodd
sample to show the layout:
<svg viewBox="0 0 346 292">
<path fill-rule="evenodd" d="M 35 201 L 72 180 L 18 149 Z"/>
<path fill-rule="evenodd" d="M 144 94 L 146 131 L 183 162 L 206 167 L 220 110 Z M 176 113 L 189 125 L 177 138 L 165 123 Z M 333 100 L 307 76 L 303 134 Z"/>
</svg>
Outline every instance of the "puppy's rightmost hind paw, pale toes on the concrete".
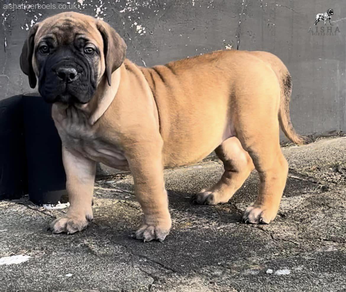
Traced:
<svg viewBox="0 0 346 292">
<path fill-rule="evenodd" d="M 252 205 L 246 208 L 243 222 L 251 224 L 269 224 L 276 217 L 277 210 L 262 205 Z"/>
</svg>

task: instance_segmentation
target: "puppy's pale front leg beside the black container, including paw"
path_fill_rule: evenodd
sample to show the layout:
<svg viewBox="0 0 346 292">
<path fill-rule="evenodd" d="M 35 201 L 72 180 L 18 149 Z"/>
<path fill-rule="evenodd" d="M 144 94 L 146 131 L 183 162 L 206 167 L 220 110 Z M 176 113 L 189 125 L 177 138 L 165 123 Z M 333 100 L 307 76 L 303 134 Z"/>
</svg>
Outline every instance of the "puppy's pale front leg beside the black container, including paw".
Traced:
<svg viewBox="0 0 346 292">
<path fill-rule="evenodd" d="M 50 228 L 53 233 L 73 234 L 84 230 L 93 219 L 91 205 L 96 163 L 82 155 L 75 156 L 64 146 L 62 154 L 70 207 L 66 215 L 51 223 Z"/>
</svg>

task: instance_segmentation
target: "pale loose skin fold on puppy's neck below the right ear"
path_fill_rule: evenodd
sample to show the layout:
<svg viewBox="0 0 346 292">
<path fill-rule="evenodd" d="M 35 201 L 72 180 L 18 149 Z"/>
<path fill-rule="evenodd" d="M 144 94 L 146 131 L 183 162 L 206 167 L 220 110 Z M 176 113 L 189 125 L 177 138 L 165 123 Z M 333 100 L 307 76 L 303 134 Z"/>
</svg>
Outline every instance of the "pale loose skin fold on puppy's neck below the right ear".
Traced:
<svg viewBox="0 0 346 292">
<path fill-rule="evenodd" d="M 117 70 L 112 73 L 111 86 L 108 85 L 107 78 L 102 77 L 98 84 L 98 89 L 90 102 L 86 104 L 76 105 L 76 108 L 84 111 L 89 116 L 89 124 L 92 126 L 97 120 L 106 112 L 110 104 L 114 100 L 119 84 L 120 84 L 120 70 L 121 65 Z"/>
</svg>

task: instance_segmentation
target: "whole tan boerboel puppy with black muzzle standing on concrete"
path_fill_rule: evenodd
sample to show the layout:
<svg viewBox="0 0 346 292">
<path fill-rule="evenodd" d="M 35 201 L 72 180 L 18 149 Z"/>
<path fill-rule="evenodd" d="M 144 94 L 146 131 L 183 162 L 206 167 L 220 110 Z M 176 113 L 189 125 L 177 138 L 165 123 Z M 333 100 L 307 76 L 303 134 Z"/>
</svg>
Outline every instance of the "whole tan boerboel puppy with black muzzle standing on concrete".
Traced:
<svg viewBox="0 0 346 292">
<path fill-rule="evenodd" d="M 144 219 L 137 239 L 162 241 L 171 229 L 165 167 L 200 161 L 215 150 L 225 172 L 195 195 L 227 202 L 256 168 L 259 194 L 244 213 L 269 223 L 279 208 L 288 164 L 279 129 L 303 143 L 290 121 L 291 76 L 266 52 L 216 51 L 144 68 L 102 20 L 64 12 L 35 24 L 20 57 L 31 87 L 53 103 L 62 140 L 70 208 L 51 224 L 75 233 L 93 219 L 95 164 L 130 170 Z"/>
</svg>

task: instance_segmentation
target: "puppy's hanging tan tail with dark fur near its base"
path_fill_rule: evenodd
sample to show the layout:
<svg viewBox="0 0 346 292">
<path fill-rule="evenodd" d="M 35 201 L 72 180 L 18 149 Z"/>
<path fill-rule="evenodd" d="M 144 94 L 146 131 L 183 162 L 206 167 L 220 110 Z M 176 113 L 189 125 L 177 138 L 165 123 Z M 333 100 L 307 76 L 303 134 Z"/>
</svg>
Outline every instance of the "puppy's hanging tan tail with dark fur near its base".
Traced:
<svg viewBox="0 0 346 292">
<path fill-rule="evenodd" d="M 278 76 L 279 77 L 279 76 Z M 281 78 L 280 78 L 281 77 Z M 293 143 L 302 145 L 307 143 L 308 138 L 300 136 L 295 132 L 291 118 L 290 118 L 290 98 L 292 93 L 292 78 L 288 70 L 284 71 L 279 78 L 281 86 L 281 100 L 279 108 L 279 122 L 280 127 L 287 138 L 289 138 Z"/>
</svg>

